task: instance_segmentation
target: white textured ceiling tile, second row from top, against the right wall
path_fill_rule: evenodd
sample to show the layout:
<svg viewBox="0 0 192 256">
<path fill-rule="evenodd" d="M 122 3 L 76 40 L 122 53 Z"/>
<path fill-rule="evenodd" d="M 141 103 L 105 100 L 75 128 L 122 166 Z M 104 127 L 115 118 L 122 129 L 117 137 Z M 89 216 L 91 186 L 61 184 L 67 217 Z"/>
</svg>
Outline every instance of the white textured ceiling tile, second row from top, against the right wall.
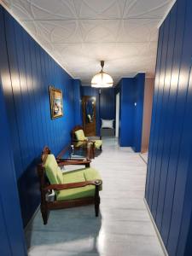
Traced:
<svg viewBox="0 0 192 256">
<path fill-rule="evenodd" d="M 158 19 L 128 19 L 122 20 L 118 42 L 148 42 L 158 35 Z"/>
</svg>

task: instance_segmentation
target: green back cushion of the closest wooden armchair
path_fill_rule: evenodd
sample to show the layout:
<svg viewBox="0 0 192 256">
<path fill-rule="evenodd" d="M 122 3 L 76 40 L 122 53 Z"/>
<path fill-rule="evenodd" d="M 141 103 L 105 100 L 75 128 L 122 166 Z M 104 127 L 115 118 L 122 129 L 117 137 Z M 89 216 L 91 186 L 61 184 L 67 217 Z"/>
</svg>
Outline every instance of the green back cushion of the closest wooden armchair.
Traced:
<svg viewBox="0 0 192 256">
<path fill-rule="evenodd" d="M 44 163 L 44 168 L 46 175 L 49 179 L 49 183 L 59 184 L 60 182 L 57 178 L 58 165 L 53 154 L 48 154 L 47 159 Z"/>
</svg>

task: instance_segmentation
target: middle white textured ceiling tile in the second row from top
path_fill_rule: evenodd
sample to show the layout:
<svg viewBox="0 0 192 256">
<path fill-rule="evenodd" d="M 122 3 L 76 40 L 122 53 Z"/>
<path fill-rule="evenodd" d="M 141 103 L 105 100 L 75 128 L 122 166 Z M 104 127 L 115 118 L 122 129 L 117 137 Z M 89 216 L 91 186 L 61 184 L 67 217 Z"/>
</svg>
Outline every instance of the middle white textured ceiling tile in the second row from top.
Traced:
<svg viewBox="0 0 192 256">
<path fill-rule="evenodd" d="M 84 42 L 114 42 L 119 30 L 119 20 L 80 20 Z"/>
</svg>

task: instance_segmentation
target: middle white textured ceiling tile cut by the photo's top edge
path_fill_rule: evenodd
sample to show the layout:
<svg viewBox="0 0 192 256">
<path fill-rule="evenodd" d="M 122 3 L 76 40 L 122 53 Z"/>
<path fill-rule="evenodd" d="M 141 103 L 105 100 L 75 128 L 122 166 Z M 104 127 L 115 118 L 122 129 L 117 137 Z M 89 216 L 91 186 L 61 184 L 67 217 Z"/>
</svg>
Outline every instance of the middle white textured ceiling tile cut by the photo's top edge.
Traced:
<svg viewBox="0 0 192 256">
<path fill-rule="evenodd" d="M 74 5 L 80 19 L 121 18 L 126 0 L 75 0 Z"/>
</svg>

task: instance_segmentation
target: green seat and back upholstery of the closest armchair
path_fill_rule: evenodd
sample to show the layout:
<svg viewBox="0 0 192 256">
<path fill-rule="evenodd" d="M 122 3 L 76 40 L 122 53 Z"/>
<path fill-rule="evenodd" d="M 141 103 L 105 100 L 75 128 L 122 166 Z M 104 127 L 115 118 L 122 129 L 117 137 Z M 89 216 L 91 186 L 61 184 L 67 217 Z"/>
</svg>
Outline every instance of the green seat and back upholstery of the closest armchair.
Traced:
<svg viewBox="0 0 192 256">
<path fill-rule="evenodd" d="M 51 184 L 79 183 L 89 180 L 102 179 L 99 173 L 91 167 L 82 168 L 71 172 L 61 172 L 61 169 L 57 165 L 55 156 L 53 154 L 48 154 L 44 167 L 46 175 L 49 179 L 49 183 Z M 92 197 L 95 195 L 95 189 L 96 187 L 94 185 L 88 185 L 82 188 L 56 191 L 56 201 L 67 201 L 90 196 Z M 100 187 L 100 190 L 102 190 L 102 186 Z"/>
</svg>

